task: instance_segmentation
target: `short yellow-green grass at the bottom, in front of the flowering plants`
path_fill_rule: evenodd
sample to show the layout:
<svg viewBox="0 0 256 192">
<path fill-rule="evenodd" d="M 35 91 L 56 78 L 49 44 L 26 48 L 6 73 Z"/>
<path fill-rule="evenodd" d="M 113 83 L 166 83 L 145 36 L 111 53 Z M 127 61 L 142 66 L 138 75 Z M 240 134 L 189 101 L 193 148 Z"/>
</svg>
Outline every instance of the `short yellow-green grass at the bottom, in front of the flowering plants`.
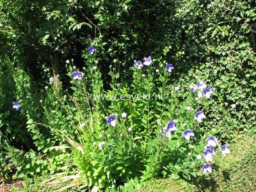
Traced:
<svg viewBox="0 0 256 192">
<path fill-rule="evenodd" d="M 214 166 L 212 174 L 200 173 L 192 181 L 152 179 L 134 191 L 256 191 L 256 137 L 237 136 L 229 144 L 231 154 L 227 157 L 214 157 L 211 163 Z M 23 189 L 14 187 L 11 191 L 54 191 L 54 188 L 40 185 L 40 180 L 26 179 Z"/>
</svg>

